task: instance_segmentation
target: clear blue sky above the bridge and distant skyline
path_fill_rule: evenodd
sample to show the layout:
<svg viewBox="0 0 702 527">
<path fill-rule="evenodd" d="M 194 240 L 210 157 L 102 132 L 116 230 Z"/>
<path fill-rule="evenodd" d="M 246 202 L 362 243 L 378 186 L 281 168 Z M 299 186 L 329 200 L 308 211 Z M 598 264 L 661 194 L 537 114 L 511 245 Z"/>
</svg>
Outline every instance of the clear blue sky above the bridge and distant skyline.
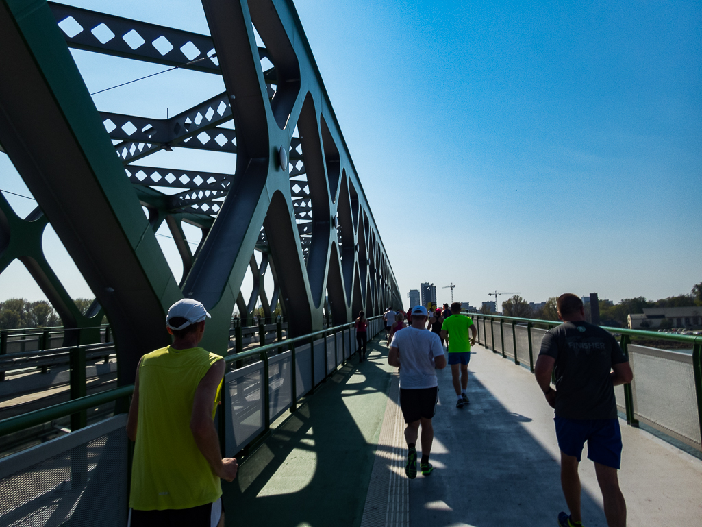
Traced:
<svg viewBox="0 0 702 527">
<path fill-rule="evenodd" d="M 71 3 L 207 30 L 190 0 Z M 403 296 L 427 280 L 439 302 L 449 282 L 478 305 L 493 289 L 618 301 L 702 281 L 701 2 L 296 6 Z M 162 69 L 88 55 L 91 89 Z M 164 117 L 223 89 L 175 74 L 98 108 Z M 21 190 L 6 164 L 2 188 Z"/>
</svg>

